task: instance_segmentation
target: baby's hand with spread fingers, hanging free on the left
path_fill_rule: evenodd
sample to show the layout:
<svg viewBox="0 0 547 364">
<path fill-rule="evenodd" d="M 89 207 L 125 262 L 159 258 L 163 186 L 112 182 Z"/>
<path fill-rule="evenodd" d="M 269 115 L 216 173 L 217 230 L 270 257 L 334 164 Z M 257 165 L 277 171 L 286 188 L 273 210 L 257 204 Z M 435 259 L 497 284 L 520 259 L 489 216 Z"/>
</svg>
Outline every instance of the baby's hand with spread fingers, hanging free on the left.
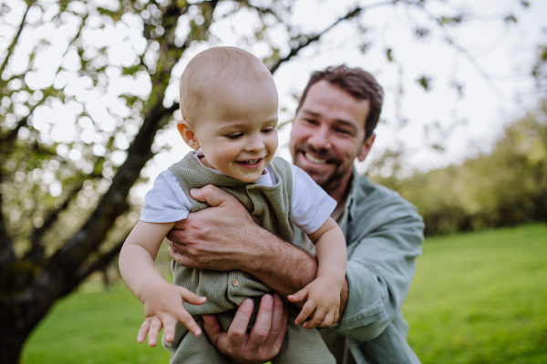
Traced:
<svg viewBox="0 0 547 364">
<path fill-rule="evenodd" d="M 186 288 L 164 282 L 147 291 L 143 299 L 145 320 L 139 329 L 137 341 L 144 342 L 149 336 L 149 346 L 154 347 L 158 342 L 161 328 L 164 329 L 165 340 L 172 342 L 175 339 L 175 325 L 181 322 L 195 336 L 201 335 L 201 329 L 191 314 L 182 307 L 182 302 L 192 305 L 201 305 L 207 298 L 200 297 Z"/>
</svg>

